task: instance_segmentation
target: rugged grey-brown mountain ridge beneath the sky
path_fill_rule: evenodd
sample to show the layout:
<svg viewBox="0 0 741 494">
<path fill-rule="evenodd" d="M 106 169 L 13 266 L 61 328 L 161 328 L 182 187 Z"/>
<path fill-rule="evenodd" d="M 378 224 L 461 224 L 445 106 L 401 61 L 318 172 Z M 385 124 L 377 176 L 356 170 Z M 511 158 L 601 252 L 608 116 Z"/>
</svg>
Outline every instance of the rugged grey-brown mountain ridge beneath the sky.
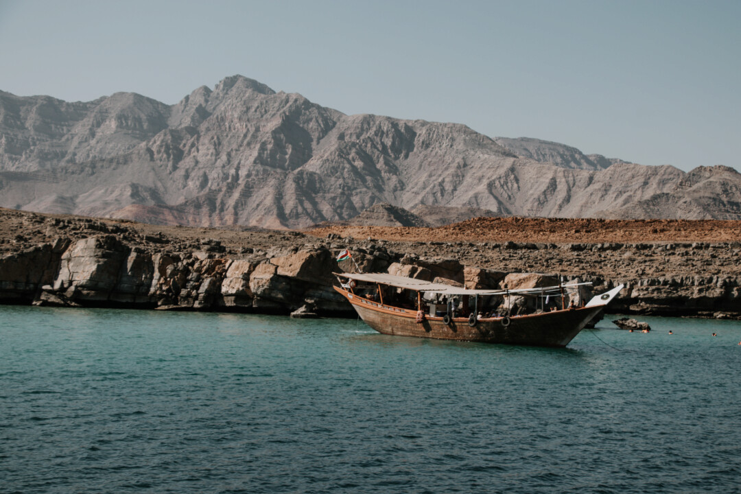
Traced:
<svg viewBox="0 0 741 494">
<path fill-rule="evenodd" d="M 0 92 L 0 206 L 306 227 L 373 204 L 496 215 L 741 218 L 741 175 L 684 173 L 461 124 L 348 116 L 242 76 L 169 106 Z"/>
</svg>

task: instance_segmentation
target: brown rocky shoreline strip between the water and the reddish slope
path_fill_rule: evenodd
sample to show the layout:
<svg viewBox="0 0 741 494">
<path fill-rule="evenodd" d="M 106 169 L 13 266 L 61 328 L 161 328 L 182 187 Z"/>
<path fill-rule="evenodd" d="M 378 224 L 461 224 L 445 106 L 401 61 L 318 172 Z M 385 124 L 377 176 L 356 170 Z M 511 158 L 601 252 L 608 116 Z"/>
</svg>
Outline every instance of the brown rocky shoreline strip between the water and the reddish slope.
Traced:
<svg viewBox="0 0 741 494">
<path fill-rule="evenodd" d="M 331 273 L 344 267 L 336 252 L 347 247 L 368 272 L 481 288 L 564 276 L 591 281 L 595 293 L 625 283 L 613 313 L 741 318 L 741 244 L 732 241 L 361 240 L 16 210 L 0 210 L 0 233 L 1 303 L 354 317 L 332 289 Z"/>
</svg>

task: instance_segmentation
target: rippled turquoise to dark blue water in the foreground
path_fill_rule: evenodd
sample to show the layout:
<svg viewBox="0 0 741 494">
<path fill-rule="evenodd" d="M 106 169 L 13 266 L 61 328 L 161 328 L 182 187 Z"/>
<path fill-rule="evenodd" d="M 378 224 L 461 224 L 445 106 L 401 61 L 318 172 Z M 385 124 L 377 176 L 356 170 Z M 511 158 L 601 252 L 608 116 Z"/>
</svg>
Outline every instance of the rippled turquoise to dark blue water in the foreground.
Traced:
<svg viewBox="0 0 741 494">
<path fill-rule="evenodd" d="M 642 320 L 554 350 L 0 307 L 0 492 L 740 492 L 741 324 Z"/>
</svg>

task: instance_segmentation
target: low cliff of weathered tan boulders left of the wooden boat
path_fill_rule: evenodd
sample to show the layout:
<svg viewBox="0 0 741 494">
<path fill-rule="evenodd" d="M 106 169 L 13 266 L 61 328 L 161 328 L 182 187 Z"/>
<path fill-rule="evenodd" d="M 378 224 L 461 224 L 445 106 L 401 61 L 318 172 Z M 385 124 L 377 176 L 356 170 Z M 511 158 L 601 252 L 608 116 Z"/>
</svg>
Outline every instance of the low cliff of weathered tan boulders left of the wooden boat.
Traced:
<svg viewBox="0 0 741 494">
<path fill-rule="evenodd" d="M 66 250 L 59 248 L 65 244 Z M 234 259 L 203 251 L 146 253 L 116 236 L 102 235 L 42 244 L 0 258 L 0 299 L 260 313 L 308 306 L 320 314 L 345 315 L 351 309 L 331 287 L 336 269 L 326 249 Z"/>
</svg>

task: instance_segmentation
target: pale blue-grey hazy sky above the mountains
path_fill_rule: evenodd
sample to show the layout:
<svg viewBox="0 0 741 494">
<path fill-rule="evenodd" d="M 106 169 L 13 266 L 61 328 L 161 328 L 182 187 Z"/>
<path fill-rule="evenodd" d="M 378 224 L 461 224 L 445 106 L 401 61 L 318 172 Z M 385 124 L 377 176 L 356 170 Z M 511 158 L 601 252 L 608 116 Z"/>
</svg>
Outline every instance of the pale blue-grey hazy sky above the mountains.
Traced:
<svg viewBox="0 0 741 494">
<path fill-rule="evenodd" d="M 0 0 L 0 90 L 173 104 L 239 73 L 344 113 L 741 170 L 741 1 Z"/>
</svg>

